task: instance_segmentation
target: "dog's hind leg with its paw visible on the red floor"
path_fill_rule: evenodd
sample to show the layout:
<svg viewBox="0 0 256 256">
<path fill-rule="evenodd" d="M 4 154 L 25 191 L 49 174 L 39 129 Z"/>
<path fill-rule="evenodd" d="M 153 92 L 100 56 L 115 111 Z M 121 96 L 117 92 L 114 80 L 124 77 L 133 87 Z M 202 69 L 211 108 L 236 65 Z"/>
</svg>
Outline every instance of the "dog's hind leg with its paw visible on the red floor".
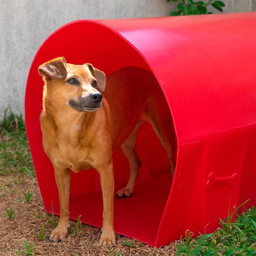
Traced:
<svg viewBox="0 0 256 256">
<path fill-rule="evenodd" d="M 121 146 L 121 149 L 125 157 L 129 161 L 131 172 L 127 185 L 124 188 L 120 189 L 118 192 L 116 192 L 117 198 L 129 197 L 133 194 L 134 184 L 141 166 L 140 158 L 137 154 L 135 145 L 139 128 L 143 122 L 143 120 L 140 120 L 140 122 L 138 122 L 137 125 L 135 125 L 130 136 Z"/>
</svg>

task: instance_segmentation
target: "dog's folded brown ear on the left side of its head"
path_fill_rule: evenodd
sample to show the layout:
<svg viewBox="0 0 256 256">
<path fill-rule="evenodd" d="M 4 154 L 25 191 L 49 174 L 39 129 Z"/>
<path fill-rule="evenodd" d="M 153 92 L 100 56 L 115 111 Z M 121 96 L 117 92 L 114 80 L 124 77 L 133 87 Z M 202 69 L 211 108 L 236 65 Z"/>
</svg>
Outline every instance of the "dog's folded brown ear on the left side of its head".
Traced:
<svg viewBox="0 0 256 256">
<path fill-rule="evenodd" d="M 66 60 L 64 57 L 54 58 L 38 67 L 38 72 L 46 79 L 64 79 L 67 76 Z"/>
</svg>

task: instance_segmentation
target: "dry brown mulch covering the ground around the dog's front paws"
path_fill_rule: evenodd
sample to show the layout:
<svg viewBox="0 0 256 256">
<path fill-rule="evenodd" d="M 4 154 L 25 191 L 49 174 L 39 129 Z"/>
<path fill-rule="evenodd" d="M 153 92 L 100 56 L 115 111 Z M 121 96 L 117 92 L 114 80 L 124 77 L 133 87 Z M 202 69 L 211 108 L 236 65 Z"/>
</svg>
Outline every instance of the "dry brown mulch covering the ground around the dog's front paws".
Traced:
<svg viewBox="0 0 256 256">
<path fill-rule="evenodd" d="M 26 177 L 26 181 L 22 184 L 17 184 L 18 181 L 17 176 L 0 176 L 0 255 L 21 255 L 16 251 L 23 250 L 25 256 L 24 241 L 33 245 L 34 255 L 41 256 L 172 256 L 177 251 L 177 242 L 157 249 L 119 235 L 116 235 L 115 246 L 99 247 L 97 242 L 100 229 L 85 224 L 78 235 L 69 234 L 61 243 L 50 243 L 47 239 L 41 241 L 39 233 L 42 224 L 45 226 L 47 236 L 51 233 L 52 226 L 45 219 L 33 217 L 33 215 L 43 215 L 49 218 L 49 214 L 44 211 L 37 181 L 33 177 Z M 23 192 L 27 192 L 28 189 L 32 193 L 29 204 L 26 203 L 23 195 Z M 8 219 L 6 213 L 6 208 L 10 207 L 14 211 L 11 220 Z M 58 221 L 58 217 L 55 218 Z M 76 222 L 71 221 L 70 224 L 71 227 L 76 227 Z M 123 243 L 124 241 L 131 241 L 136 247 L 128 247 Z"/>
</svg>

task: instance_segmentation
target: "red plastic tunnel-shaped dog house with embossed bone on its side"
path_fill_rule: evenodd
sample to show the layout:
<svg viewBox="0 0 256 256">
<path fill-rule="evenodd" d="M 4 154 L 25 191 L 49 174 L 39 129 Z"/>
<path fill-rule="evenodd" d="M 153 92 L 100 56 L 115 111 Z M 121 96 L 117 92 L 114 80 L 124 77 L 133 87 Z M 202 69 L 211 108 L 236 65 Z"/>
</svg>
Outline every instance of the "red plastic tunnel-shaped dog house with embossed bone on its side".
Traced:
<svg viewBox="0 0 256 256">
<path fill-rule="evenodd" d="M 39 114 L 43 81 L 38 66 L 57 56 L 91 62 L 107 75 L 137 66 L 154 73 L 175 123 L 178 153 L 172 182 L 168 161 L 149 125 L 137 148 L 143 162 L 132 198 L 115 199 L 115 231 L 161 246 L 186 229 L 212 232 L 228 205 L 256 205 L 256 13 L 123 20 L 79 20 L 54 32 L 32 63 L 25 99 L 26 128 L 47 212 L 58 193 L 42 148 Z M 151 137 L 152 140 L 148 140 Z M 154 160 L 154 159 L 157 159 Z M 115 190 L 128 162 L 113 155 Z M 70 216 L 102 224 L 95 170 L 72 175 Z"/>
</svg>

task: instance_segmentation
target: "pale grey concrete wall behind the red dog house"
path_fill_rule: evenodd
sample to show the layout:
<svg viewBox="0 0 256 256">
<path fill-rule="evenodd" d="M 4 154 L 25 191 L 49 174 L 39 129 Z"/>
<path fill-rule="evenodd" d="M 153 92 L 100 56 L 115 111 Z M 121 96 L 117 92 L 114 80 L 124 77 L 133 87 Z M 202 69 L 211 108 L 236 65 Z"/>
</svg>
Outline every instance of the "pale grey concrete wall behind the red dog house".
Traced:
<svg viewBox="0 0 256 256">
<path fill-rule="evenodd" d="M 224 0 L 225 12 L 256 10 L 256 0 Z M 10 105 L 23 113 L 26 78 L 41 43 L 78 19 L 167 16 L 166 0 L 0 0 L 0 118 Z"/>
</svg>

